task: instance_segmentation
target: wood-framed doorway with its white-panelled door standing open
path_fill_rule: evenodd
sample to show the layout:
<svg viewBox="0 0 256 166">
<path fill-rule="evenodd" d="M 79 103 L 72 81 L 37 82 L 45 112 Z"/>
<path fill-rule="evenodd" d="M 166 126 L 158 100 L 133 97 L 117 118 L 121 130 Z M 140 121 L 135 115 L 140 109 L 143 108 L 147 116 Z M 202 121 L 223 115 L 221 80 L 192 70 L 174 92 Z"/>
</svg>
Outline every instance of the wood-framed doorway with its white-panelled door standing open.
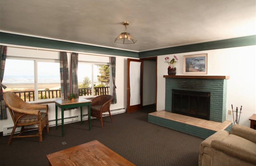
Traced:
<svg viewBox="0 0 256 166">
<path fill-rule="evenodd" d="M 134 65 L 136 64 L 136 65 Z M 132 67 L 130 67 L 132 65 Z M 130 73 L 131 72 L 131 73 Z M 132 82 L 135 76 L 136 82 Z M 135 96 L 133 95 L 136 91 Z M 127 113 L 153 105 L 156 111 L 157 57 L 127 59 Z M 143 97 L 142 97 L 143 96 Z M 136 100 L 135 100 L 136 99 Z M 138 99 L 138 100 L 137 100 Z M 135 104 L 133 103 L 136 101 Z"/>
</svg>

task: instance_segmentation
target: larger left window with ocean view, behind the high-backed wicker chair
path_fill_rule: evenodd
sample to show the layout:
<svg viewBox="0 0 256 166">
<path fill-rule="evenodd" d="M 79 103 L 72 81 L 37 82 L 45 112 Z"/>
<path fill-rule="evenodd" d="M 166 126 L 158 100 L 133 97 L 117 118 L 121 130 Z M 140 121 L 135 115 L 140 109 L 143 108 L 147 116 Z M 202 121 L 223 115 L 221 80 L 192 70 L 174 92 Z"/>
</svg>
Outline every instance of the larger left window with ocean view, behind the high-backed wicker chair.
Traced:
<svg viewBox="0 0 256 166">
<path fill-rule="evenodd" d="M 61 97 L 60 63 L 56 60 L 6 58 L 3 84 L 25 102 Z"/>
</svg>

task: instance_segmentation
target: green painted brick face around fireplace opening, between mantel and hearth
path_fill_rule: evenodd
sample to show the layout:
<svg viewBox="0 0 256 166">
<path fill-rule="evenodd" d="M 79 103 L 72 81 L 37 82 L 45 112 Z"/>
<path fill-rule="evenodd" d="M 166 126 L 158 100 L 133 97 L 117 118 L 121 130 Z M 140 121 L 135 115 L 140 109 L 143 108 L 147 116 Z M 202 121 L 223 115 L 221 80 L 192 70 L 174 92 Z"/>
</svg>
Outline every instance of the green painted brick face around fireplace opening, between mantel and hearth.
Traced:
<svg viewBox="0 0 256 166">
<path fill-rule="evenodd" d="M 165 110 L 172 111 L 172 89 L 211 92 L 210 120 L 226 120 L 227 79 L 165 78 Z"/>
</svg>

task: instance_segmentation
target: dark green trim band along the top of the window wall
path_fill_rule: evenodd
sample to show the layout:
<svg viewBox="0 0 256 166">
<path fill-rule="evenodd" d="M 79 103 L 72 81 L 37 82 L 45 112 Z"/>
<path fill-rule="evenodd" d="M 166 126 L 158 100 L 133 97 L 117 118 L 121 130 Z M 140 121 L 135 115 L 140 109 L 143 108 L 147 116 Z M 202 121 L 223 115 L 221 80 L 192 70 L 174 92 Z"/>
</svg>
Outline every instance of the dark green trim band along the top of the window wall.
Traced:
<svg viewBox="0 0 256 166">
<path fill-rule="evenodd" d="M 19 34 L 10 34 L 0 32 L 0 43 L 40 47 L 47 49 L 60 49 L 60 50 L 70 50 L 94 54 L 106 54 L 106 55 L 116 55 L 122 57 L 139 57 L 138 52 L 126 51 L 120 49 L 111 49 L 106 47 L 92 46 L 86 44 L 79 44 L 67 41 L 58 41 L 51 39 L 44 39 L 32 36 L 25 36 Z"/>
</svg>

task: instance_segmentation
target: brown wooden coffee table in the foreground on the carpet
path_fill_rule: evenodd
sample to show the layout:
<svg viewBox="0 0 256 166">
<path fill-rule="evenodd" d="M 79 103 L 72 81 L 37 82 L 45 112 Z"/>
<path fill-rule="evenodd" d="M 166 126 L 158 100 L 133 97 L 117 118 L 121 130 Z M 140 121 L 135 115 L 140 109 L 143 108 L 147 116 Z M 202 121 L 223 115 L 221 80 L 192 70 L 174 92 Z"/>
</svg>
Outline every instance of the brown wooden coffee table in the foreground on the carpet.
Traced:
<svg viewBox="0 0 256 166">
<path fill-rule="evenodd" d="M 46 157 L 50 166 L 135 166 L 97 140 L 61 150 L 59 152 L 46 155 Z"/>
</svg>

